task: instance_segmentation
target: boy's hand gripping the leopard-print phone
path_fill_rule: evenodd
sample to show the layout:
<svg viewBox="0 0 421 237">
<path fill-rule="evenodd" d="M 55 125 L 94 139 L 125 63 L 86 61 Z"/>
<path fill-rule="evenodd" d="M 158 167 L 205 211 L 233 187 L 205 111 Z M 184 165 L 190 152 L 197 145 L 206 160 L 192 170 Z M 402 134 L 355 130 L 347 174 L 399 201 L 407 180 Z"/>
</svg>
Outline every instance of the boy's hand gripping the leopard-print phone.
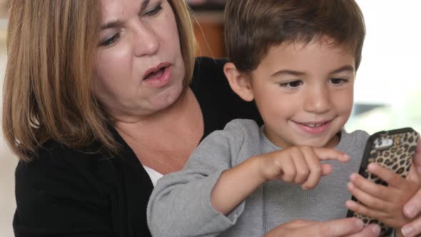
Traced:
<svg viewBox="0 0 421 237">
<path fill-rule="evenodd" d="M 370 163 L 367 168 L 370 173 L 388 183 L 388 186 L 373 183 L 357 173 L 352 173 L 348 189 L 364 205 L 347 201 L 346 206 L 352 211 L 376 218 L 387 226 L 402 228 L 410 221 L 410 218 L 403 214 L 403 206 L 421 187 L 416 170 L 407 178 L 402 178 L 375 163 Z"/>
</svg>

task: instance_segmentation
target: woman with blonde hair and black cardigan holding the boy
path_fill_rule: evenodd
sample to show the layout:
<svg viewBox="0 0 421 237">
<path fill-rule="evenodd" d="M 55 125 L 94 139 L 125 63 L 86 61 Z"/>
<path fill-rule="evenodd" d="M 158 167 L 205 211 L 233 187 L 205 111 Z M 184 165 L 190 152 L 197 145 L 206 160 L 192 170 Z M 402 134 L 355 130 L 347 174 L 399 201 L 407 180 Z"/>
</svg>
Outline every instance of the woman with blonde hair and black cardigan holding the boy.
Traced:
<svg viewBox="0 0 421 237">
<path fill-rule="evenodd" d="M 3 129 L 20 159 L 16 236 L 150 236 L 153 182 L 231 119 L 261 123 L 223 61 L 195 64 L 193 42 L 181 0 L 11 1 Z M 340 221 L 341 235 L 372 236 Z"/>
</svg>

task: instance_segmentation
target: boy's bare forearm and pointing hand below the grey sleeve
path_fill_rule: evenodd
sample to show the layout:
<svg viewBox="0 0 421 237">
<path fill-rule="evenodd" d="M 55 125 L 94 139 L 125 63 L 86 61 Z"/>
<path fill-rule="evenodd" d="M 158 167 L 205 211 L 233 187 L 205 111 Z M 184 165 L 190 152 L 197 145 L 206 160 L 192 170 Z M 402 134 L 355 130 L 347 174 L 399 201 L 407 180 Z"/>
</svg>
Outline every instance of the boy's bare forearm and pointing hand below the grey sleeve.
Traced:
<svg viewBox="0 0 421 237">
<path fill-rule="evenodd" d="M 210 201 L 216 211 L 228 215 L 256 188 L 270 180 L 300 183 L 303 189 L 314 188 L 320 176 L 332 171 L 330 164 L 322 164 L 320 160 L 346 162 L 349 157 L 335 149 L 308 146 L 254 156 L 221 174 Z"/>
</svg>

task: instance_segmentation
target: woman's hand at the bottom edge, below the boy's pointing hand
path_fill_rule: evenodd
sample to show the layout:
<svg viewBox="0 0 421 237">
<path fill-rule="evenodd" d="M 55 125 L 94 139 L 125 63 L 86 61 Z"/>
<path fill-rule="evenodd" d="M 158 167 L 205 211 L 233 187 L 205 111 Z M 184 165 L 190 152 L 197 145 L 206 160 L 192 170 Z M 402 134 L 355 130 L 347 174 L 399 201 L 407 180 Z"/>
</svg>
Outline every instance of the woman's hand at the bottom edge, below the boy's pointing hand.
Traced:
<svg viewBox="0 0 421 237">
<path fill-rule="evenodd" d="M 264 237 L 375 237 L 380 227 L 375 224 L 363 226 L 357 218 L 343 218 L 334 221 L 294 220 L 273 228 Z"/>
</svg>

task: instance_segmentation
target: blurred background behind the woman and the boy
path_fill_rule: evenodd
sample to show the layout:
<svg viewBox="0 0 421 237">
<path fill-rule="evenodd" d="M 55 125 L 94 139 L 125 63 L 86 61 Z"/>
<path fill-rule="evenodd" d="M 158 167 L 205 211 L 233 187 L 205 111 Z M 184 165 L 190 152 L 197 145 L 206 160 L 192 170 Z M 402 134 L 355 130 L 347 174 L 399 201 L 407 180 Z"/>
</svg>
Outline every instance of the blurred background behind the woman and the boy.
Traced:
<svg viewBox="0 0 421 237">
<path fill-rule="evenodd" d="M 0 0 L 0 91 L 6 68 L 7 0 Z M 36 1 L 36 0 L 26 0 Z M 196 16 L 197 55 L 224 57 L 224 0 L 186 0 Z M 357 0 L 367 36 L 345 128 L 369 133 L 410 126 L 421 132 L 421 1 Z M 417 30 L 418 29 L 418 30 Z M 0 104 L 1 106 L 1 104 Z M 1 108 L 0 108 L 1 109 Z M 13 236 L 17 159 L 0 135 L 0 236 Z"/>
</svg>

